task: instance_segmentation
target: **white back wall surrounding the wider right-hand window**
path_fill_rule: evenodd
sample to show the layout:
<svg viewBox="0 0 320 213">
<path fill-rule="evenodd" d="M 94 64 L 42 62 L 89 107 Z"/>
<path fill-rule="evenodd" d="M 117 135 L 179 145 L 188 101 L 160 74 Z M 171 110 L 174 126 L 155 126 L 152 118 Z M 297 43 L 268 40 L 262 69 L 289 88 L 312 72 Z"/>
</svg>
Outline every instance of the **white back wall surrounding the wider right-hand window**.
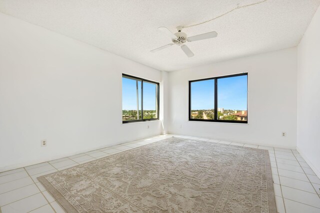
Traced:
<svg viewBox="0 0 320 213">
<path fill-rule="evenodd" d="M 169 132 L 295 148 L 296 69 L 296 48 L 290 48 L 170 72 Z M 241 72 L 248 72 L 248 124 L 188 121 L 189 80 Z"/>
</svg>

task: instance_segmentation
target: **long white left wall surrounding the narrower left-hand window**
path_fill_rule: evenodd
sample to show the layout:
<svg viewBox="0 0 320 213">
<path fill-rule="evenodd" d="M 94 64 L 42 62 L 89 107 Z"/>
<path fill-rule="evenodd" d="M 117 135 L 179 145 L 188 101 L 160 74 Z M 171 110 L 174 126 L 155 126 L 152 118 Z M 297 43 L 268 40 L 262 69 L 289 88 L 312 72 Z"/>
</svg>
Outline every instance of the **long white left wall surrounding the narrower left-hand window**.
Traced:
<svg viewBox="0 0 320 213">
<path fill-rule="evenodd" d="M 163 132 L 121 119 L 121 73 L 160 82 L 163 104 L 161 71 L 2 13 L 0 31 L 0 172 Z"/>
</svg>

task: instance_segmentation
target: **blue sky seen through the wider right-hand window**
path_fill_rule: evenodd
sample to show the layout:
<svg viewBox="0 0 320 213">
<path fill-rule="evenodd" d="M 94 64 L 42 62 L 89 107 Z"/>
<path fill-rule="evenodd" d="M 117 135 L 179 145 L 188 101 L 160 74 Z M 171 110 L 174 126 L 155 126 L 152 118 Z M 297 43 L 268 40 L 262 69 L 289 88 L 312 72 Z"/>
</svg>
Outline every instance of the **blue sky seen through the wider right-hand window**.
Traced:
<svg viewBox="0 0 320 213">
<path fill-rule="evenodd" d="M 246 110 L 247 76 L 219 78 L 218 108 Z M 214 108 L 214 80 L 191 83 L 191 109 Z"/>
</svg>

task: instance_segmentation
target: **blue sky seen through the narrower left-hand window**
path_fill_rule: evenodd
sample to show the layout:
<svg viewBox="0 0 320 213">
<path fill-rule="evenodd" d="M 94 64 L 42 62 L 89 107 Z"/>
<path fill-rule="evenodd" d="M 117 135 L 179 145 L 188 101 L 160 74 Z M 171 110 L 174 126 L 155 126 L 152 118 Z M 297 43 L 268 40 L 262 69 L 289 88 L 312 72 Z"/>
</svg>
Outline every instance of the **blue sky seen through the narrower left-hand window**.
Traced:
<svg viewBox="0 0 320 213">
<path fill-rule="evenodd" d="M 139 109 L 141 109 L 141 81 L 138 81 Z M 156 85 L 143 83 L 143 109 L 155 110 Z M 122 77 L 122 110 L 136 110 L 136 82 Z"/>
</svg>

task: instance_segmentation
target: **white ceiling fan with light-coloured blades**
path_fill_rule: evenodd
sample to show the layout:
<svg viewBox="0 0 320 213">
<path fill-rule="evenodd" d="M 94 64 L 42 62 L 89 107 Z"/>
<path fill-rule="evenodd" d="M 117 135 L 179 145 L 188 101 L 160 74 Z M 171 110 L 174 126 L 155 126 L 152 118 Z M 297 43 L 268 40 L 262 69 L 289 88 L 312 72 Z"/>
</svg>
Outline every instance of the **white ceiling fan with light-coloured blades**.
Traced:
<svg viewBox="0 0 320 213">
<path fill-rule="evenodd" d="M 208 38 L 215 38 L 218 35 L 218 33 L 216 33 L 215 31 L 212 31 L 212 32 L 207 32 L 207 33 L 188 37 L 184 32 L 181 32 L 182 28 L 183 28 L 182 26 L 177 26 L 176 27 L 177 32 L 173 34 L 173 32 L 171 32 L 168 28 L 166 28 L 164 26 L 158 27 L 159 30 L 161 30 L 162 32 L 164 32 L 165 34 L 167 34 L 168 36 L 171 37 L 173 43 L 169 43 L 164 46 L 158 47 L 156 49 L 152 49 L 150 52 L 156 52 L 156 51 L 159 51 L 159 50 L 164 49 L 166 47 L 172 46 L 173 44 L 176 44 L 179 47 L 181 47 L 182 51 L 186 54 L 186 56 L 192 57 L 194 54 L 184 44 L 185 42 L 203 40 L 203 39 L 208 39 Z"/>
</svg>

